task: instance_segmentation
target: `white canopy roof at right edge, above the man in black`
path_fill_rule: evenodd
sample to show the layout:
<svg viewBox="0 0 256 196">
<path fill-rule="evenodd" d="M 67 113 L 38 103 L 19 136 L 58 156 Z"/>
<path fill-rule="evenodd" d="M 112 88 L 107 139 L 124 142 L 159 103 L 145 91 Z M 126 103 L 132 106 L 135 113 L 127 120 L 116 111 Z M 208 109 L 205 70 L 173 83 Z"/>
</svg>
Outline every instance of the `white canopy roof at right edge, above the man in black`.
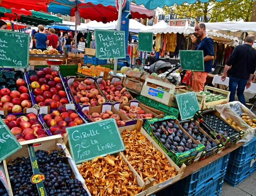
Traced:
<svg viewBox="0 0 256 196">
<path fill-rule="evenodd" d="M 205 23 L 206 30 L 218 32 L 223 35 L 240 37 L 242 32 L 256 34 L 256 22 L 219 22 Z"/>
</svg>

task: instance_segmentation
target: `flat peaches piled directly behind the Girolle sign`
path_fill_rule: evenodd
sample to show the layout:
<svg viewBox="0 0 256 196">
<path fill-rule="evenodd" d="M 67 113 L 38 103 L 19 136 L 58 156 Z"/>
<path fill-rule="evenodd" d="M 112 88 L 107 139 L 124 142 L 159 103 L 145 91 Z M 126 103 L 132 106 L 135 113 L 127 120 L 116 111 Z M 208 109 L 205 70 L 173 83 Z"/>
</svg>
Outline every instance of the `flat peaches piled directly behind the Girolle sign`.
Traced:
<svg viewBox="0 0 256 196">
<path fill-rule="evenodd" d="M 97 112 L 93 112 L 91 115 L 89 115 L 89 110 L 84 110 L 83 112 L 93 122 L 102 121 L 102 120 L 105 120 L 105 119 L 108 119 L 108 118 L 114 118 L 116 120 L 116 124 L 117 124 L 118 127 L 119 126 L 124 126 L 125 122 L 126 122 L 126 121 L 121 121 L 120 116 L 118 114 L 114 114 L 110 110 L 106 110 L 105 112 L 102 112 L 100 114 L 97 113 Z"/>
</svg>

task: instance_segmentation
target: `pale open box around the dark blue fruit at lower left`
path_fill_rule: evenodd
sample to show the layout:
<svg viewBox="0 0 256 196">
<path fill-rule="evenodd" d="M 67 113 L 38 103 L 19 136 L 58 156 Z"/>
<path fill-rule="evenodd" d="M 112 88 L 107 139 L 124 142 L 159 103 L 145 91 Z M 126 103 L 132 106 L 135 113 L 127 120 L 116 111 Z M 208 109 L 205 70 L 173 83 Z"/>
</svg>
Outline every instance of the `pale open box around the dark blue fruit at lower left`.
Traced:
<svg viewBox="0 0 256 196">
<path fill-rule="evenodd" d="M 11 182 L 9 179 L 7 164 L 10 163 L 11 161 L 15 160 L 17 157 L 28 157 L 29 151 L 27 149 L 27 144 L 34 144 L 35 152 L 37 150 L 46 150 L 46 151 L 50 152 L 52 150 L 62 150 L 62 148 L 64 148 L 65 153 L 68 157 L 67 164 L 69 164 L 69 166 L 72 170 L 73 179 L 79 179 L 79 181 L 81 181 L 81 183 L 83 184 L 84 189 L 87 190 L 88 195 L 91 196 L 86 187 L 83 177 L 81 176 L 81 174 L 79 173 L 79 171 L 76 167 L 75 161 L 71 158 L 70 153 L 68 152 L 65 145 L 62 143 L 61 135 L 54 135 L 54 136 L 51 136 L 50 138 L 46 137 L 46 138 L 39 138 L 37 140 L 22 141 L 22 142 L 20 142 L 20 145 L 22 146 L 22 148 L 20 150 L 18 150 L 17 152 L 13 153 L 12 155 L 10 155 L 8 158 L 3 160 L 3 166 L 5 169 L 5 173 L 6 173 L 6 179 L 8 182 L 9 189 L 10 189 L 10 196 L 14 196 L 14 193 L 12 192 L 12 185 L 11 185 Z M 38 146 L 35 146 L 35 144 L 38 144 Z"/>
</svg>

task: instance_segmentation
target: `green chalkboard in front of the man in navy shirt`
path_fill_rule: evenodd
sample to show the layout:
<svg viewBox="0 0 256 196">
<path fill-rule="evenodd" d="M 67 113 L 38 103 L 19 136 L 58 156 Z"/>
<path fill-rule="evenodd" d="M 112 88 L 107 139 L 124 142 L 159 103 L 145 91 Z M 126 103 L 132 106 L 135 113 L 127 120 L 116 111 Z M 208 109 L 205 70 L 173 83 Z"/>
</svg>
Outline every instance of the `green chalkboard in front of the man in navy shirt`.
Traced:
<svg viewBox="0 0 256 196">
<path fill-rule="evenodd" d="M 180 66 L 182 69 L 204 72 L 204 51 L 180 50 Z"/>
</svg>

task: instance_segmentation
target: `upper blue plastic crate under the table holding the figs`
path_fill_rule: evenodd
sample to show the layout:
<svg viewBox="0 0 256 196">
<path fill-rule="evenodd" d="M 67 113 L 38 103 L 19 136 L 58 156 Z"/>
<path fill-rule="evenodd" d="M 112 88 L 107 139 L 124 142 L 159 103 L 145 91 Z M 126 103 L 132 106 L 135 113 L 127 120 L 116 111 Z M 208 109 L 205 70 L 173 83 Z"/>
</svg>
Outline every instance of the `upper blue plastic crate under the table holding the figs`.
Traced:
<svg viewBox="0 0 256 196">
<path fill-rule="evenodd" d="M 176 190 L 181 189 L 188 194 L 198 192 L 226 173 L 228 159 L 229 154 L 206 165 L 185 179 L 176 182 L 173 186 L 176 187 Z"/>
</svg>

